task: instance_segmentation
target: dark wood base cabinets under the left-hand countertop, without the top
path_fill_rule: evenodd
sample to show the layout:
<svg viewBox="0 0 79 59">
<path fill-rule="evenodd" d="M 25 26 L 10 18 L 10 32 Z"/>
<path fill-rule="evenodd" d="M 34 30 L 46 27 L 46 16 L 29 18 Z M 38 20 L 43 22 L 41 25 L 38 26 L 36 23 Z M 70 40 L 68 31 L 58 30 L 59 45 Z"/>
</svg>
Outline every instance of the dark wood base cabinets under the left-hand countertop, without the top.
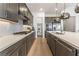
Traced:
<svg viewBox="0 0 79 59">
<path fill-rule="evenodd" d="M 34 32 L 0 52 L 0 56 L 26 56 L 34 42 Z"/>
</svg>

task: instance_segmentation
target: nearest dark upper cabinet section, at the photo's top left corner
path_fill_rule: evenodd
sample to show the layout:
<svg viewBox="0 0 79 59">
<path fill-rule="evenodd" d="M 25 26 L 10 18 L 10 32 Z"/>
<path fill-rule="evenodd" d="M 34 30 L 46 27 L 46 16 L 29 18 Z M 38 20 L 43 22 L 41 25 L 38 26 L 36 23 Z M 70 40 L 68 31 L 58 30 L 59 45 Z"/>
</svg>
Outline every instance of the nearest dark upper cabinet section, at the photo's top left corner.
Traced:
<svg viewBox="0 0 79 59">
<path fill-rule="evenodd" d="M 17 22 L 18 4 L 17 3 L 0 3 L 0 18 Z"/>
</svg>

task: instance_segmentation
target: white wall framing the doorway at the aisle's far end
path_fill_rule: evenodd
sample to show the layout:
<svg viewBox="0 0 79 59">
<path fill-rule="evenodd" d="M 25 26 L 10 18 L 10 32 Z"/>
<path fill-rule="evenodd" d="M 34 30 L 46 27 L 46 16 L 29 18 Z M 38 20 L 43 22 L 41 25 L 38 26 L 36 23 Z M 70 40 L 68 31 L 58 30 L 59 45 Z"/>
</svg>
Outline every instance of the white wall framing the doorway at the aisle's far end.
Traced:
<svg viewBox="0 0 79 59">
<path fill-rule="evenodd" d="M 35 28 L 36 32 L 36 38 L 37 38 L 37 23 L 43 24 L 43 38 L 45 37 L 45 13 L 44 12 L 34 12 L 33 13 L 33 26 Z"/>
</svg>

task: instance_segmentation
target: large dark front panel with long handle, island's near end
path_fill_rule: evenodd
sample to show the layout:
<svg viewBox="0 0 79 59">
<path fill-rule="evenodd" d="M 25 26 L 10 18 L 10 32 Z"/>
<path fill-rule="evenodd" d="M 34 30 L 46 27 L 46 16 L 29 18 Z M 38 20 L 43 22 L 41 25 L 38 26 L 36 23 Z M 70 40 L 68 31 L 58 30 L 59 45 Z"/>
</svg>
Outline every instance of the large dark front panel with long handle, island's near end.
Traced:
<svg viewBox="0 0 79 59">
<path fill-rule="evenodd" d="M 64 43 L 61 43 L 60 41 L 56 41 L 56 56 L 74 56 L 75 55 L 75 49 L 68 47 Z"/>
</svg>

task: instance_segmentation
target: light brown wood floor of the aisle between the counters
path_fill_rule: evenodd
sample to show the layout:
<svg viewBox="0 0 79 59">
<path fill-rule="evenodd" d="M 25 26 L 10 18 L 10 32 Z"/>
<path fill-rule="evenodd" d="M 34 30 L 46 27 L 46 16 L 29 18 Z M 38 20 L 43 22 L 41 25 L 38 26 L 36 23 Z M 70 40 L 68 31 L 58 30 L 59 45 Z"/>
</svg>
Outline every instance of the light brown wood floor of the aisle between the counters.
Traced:
<svg viewBox="0 0 79 59">
<path fill-rule="evenodd" d="M 28 56 L 52 56 L 52 53 L 48 47 L 46 39 L 37 38 L 29 53 Z"/>
</svg>

